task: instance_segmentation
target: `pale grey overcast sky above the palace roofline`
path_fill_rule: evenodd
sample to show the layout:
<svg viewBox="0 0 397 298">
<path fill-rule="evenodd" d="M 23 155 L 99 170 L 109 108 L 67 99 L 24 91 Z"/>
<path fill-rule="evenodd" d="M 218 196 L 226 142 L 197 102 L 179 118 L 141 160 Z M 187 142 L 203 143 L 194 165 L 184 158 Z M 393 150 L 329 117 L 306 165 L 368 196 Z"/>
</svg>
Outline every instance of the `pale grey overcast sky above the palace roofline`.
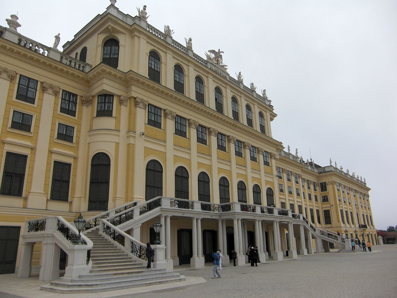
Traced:
<svg viewBox="0 0 397 298">
<path fill-rule="evenodd" d="M 70 41 L 110 5 L 109 0 L 2 1 L 0 25 L 18 13 L 18 32 L 52 46 Z M 322 166 L 329 160 L 366 178 L 374 224 L 397 224 L 397 1 L 118 0 L 137 15 L 147 6 L 148 23 L 185 45 L 192 37 L 201 57 L 224 51 L 231 75 L 266 89 L 278 114 L 274 139 L 298 148 Z M 287 149 L 285 149 L 287 150 Z"/>
</svg>

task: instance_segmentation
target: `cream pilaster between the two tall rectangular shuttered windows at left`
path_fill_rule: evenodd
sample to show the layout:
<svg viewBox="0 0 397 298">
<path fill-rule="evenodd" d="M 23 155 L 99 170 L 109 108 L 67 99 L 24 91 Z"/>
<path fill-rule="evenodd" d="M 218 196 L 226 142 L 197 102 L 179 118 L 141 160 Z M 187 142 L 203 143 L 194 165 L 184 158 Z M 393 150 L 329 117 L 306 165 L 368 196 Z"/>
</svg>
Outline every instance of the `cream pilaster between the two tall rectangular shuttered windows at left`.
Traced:
<svg viewBox="0 0 397 298">
<path fill-rule="evenodd" d="M 46 177 L 46 164 L 48 161 L 48 147 L 50 141 L 52 114 L 54 113 L 55 96 L 58 95 L 60 88 L 51 83 L 42 83 L 43 101 L 41 108 L 41 119 L 39 133 L 37 135 L 36 155 L 32 173 L 32 184 L 27 195 L 27 208 L 46 209 L 47 197 L 44 192 L 44 182 Z M 56 128 L 58 130 L 58 127 Z M 76 136 L 75 130 L 74 135 Z M 32 162 L 32 160 L 30 160 Z"/>
</svg>

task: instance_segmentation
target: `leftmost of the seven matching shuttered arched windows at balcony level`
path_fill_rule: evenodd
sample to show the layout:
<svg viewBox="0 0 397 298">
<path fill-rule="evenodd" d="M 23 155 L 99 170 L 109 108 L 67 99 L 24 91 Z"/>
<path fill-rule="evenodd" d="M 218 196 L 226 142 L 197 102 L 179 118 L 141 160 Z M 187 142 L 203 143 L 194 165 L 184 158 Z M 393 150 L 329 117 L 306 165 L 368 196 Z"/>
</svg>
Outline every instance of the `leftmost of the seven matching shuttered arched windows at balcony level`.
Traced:
<svg viewBox="0 0 397 298">
<path fill-rule="evenodd" d="M 146 201 L 163 195 L 163 167 L 152 159 L 146 164 Z"/>
</svg>

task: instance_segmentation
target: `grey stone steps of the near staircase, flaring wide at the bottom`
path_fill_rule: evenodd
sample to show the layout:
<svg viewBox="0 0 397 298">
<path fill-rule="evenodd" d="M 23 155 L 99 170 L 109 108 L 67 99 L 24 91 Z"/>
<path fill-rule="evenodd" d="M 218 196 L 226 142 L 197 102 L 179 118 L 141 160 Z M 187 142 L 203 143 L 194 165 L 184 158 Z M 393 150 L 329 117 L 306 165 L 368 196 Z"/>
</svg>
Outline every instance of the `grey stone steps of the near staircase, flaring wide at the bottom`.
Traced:
<svg viewBox="0 0 397 298">
<path fill-rule="evenodd" d="M 58 293 L 103 292 L 185 280 L 183 275 L 166 269 L 146 269 L 143 261 L 134 259 L 99 234 L 98 228 L 86 236 L 94 244 L 91 249 L 90 273 L 81 274 L 77 279 L 60 277 L 41 286 L 42 290 Z"/>
</svg>

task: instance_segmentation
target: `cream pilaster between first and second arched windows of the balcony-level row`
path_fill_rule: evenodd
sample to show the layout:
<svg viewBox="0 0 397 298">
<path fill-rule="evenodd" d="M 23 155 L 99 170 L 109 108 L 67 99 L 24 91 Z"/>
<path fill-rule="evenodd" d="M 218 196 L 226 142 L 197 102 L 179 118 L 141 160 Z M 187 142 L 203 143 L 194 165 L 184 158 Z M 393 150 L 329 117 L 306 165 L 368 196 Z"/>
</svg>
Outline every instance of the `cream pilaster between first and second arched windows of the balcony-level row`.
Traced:
<svg viewBox="0 0 397 298">
<path fill-rule="evenodd" d="M 166 196 L 175 197 L 175 174 L 173 166 L 173 127 L 176 113 L 166 109 L 164 112 L 166 118 Z"/>
</svg>

